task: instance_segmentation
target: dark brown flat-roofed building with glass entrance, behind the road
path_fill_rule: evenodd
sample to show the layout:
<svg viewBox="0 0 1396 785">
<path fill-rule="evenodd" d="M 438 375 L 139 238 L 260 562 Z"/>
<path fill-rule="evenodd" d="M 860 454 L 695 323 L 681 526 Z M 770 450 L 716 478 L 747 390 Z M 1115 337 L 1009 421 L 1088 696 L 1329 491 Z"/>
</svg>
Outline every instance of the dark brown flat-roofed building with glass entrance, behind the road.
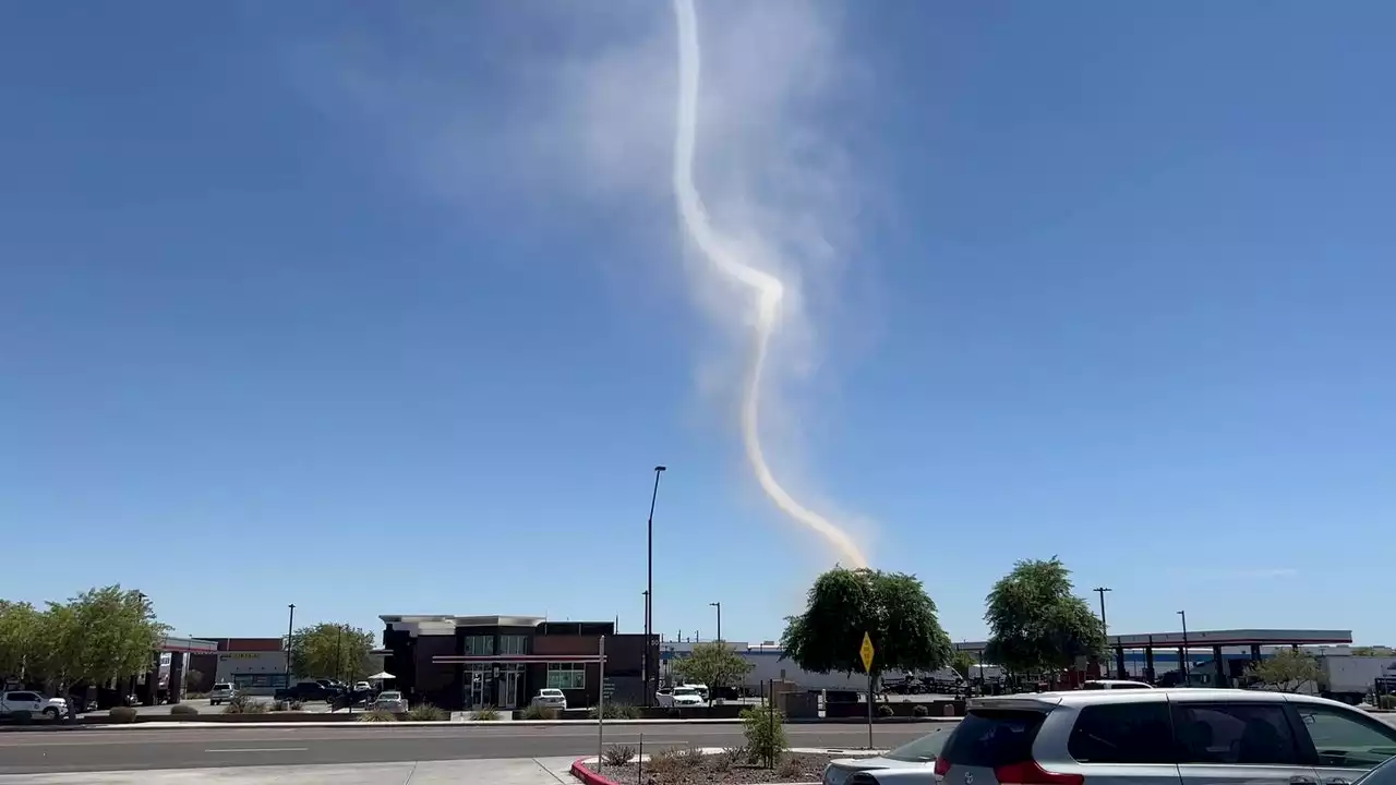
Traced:
<svg viewBox="0 0 1396 785">
<path fill-rule="evenodd" d="M 394 687 L 413 701 L 465 710 L 491 705 L 522 708 L 544 687 L 567 696 L 570 707 L 595 705 L 602 666 L 579 658 L 596 655 L 606 638 L 607 700 L 644 704 L 659 672 L 659 637 L 617 636 L 610 622 L 546 622 L 532 616 L 380 616 L 388 651 L 383 669 Z"/>
</svg>

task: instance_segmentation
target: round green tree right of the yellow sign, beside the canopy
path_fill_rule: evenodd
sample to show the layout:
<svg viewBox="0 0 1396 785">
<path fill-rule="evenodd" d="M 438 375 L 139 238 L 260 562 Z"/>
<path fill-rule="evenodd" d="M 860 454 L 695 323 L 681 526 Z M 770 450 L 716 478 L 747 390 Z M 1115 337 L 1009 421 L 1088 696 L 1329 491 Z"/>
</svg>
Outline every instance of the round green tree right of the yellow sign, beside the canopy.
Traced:
<svg viewBox="0 0 1396 785">
<path fill-rule="evenodd" d="M 984 659 L 1012 672 L 1055 672 L 1106 650 L 1100 619 L 1072 594 L 1071 570 L 1055 556 L 1015 564 L 994 584 L 986 605 Z"/>
</svg>

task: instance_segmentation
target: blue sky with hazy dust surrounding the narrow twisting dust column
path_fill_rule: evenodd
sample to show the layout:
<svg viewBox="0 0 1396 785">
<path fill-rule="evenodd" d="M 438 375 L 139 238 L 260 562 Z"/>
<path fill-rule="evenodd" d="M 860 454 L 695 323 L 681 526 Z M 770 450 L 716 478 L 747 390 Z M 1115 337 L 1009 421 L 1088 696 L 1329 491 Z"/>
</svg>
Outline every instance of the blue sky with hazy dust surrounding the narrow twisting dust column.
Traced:
<svg viewBox="0 0 1396 785">
<path fill-rule="evenodd" d="M 0 522 L 181 633 L 380 613 L 778 637 L 747 306 L 669 194 L 666 3 L 0 8 Z M 955 638 L 1060 555 L 1111 630 L 1382 613 L 1385 3 L 699 1 L 699 187 L 797 282 L 776 474 Z M 706 156 L 705 156 L 706 155 Z"/>
</svg>

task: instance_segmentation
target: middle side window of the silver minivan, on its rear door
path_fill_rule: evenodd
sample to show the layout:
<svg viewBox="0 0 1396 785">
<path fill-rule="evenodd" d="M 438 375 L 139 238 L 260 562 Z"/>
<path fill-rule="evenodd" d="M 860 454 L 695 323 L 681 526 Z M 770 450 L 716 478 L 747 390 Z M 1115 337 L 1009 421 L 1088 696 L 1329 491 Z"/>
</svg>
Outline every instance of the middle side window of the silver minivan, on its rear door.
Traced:
<svg viewBox="0 0 1396 785">
<path fill-rule="evenodd" d="M 1280 703 L 1174 705 L 1178 763 L 1297 765 L 1300 756 Z"/>
</svg>

